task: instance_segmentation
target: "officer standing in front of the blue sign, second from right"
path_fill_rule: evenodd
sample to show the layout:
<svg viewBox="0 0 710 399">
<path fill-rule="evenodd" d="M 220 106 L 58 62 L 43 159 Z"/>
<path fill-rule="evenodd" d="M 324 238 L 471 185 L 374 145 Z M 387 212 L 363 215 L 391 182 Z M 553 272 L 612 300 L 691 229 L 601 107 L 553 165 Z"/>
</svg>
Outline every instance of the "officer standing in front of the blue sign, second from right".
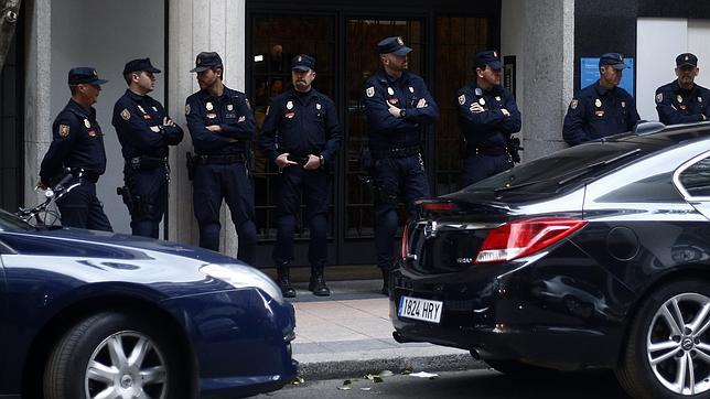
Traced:
<svg viewBox="0 0 710 399">
<path fill-rule="evenodd" d="M 623 133 L 639 120 L 636 101 L 618 87 L 624 58 L 617 53 L 606 53 L 599 58 L 600 78 L 572 98 L 562 137 L 570 145 Z"/>
</svg>

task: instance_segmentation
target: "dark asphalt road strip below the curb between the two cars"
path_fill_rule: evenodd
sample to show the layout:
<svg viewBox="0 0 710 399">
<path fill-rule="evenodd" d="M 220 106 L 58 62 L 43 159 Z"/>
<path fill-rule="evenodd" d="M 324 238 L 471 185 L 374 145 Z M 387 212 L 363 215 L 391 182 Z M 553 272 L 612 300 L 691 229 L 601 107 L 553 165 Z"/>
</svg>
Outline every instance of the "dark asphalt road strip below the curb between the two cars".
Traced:
<svg viewBox="0 0 710 399">
<path fill-rule="evenodd" d="M 438 373 L 433 379 L 410 375 L 384 377 L 383 382 L 353 378 L 304 381 L 258 398 L 628 398 L 612 371 L 551 373 L 549 379 L 518 380 L 497 371 Z M 344 386 L 349 389 L 342 390 Z"/>
</svg>

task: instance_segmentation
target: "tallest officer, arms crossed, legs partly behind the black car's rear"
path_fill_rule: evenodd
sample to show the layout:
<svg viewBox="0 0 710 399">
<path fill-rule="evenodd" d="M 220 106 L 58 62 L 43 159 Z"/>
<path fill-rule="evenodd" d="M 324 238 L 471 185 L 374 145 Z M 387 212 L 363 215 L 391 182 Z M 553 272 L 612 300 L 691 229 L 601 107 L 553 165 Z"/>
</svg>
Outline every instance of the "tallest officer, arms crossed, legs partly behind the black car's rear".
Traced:
<svg viewBox="0 0 710 399">
<path fill-rule="evenodd" d="M 375 188 L 375 246 L 388 294 L 392 246 L 400 198 L 413 212 L 417 198 L 429 196 L 421 157 L 421 129 L 439 118 L 439 107 L 424 80 L 407 72 L 411 48 L 400 36 L 377 44 L 383 69 L 365 83 L 365 114 L 369 126 L 370 172 Z"/>
</svg>

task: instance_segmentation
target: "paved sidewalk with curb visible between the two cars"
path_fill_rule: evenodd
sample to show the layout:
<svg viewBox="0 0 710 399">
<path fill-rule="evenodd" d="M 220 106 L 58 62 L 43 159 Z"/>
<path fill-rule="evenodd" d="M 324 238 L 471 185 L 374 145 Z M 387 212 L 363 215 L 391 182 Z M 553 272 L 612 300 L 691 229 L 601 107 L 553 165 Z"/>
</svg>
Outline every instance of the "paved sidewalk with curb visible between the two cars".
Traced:
<svg viewBox="0 0 710 399">
<path fill-rule="evenodd" d="M 467 351 L 392 338 L 389 300 L 380 280 L 329 282 L 331 296 L 314 296 L 294 283 L 293 358 L 304 379 L 353 378 L 381 370 L 400 373 L 485 368 Z"/>
</svg>

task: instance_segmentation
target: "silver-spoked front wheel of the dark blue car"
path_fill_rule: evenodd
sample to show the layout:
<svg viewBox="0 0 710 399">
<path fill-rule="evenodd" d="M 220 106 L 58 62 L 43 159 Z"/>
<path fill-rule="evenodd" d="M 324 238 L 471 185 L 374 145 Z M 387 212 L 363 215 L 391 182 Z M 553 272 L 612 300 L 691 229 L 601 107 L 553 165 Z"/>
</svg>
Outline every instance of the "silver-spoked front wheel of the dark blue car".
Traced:
<svg viewBox="0 0 710 399">
<path fill-rule="evenodd" d="M 154 324 L 110 312 L 77 323 L 50 355 L 44 397 L 184 398 L 179 346 Z"/>
</svg>

